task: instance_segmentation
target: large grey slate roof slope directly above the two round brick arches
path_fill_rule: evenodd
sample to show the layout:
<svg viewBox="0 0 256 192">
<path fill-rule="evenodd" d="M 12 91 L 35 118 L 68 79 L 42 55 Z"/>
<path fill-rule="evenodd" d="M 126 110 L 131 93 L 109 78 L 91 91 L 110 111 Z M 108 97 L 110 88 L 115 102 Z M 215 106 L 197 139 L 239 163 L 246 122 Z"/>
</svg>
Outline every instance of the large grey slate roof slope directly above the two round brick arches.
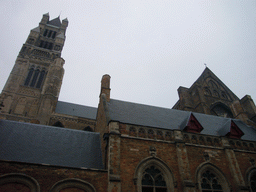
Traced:
<svg viewBox="0 0 256 192">
<path fill-rule="evenodd" d="M 0 120 L 0 159 L 104 168 L 98 133 L 8 120 Z"/>
</svg>

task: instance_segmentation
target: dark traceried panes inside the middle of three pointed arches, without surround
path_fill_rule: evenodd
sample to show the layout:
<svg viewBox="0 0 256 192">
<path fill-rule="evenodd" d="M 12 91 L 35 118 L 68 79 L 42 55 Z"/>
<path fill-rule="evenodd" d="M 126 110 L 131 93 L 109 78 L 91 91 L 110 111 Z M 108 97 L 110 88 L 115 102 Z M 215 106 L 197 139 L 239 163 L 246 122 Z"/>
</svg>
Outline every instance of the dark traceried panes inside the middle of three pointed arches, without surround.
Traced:
<svg viewBox="0 0 256 192">
<path fill-rule="evenodd" d="M 201 189 L 202 189 L 202 192 L 223 191 L 219 178 L 216 177 L 216 175 L 209 170 L 205 171 L 202 174 Z"/>
</svg>

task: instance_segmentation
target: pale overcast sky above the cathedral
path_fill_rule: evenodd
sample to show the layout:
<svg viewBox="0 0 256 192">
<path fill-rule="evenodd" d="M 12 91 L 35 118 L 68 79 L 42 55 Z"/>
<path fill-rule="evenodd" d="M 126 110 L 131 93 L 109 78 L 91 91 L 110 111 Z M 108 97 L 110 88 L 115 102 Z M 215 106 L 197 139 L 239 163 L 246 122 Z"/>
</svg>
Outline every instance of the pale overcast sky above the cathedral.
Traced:
<svg viewBox="0 0 256 192">
<path fill-rule="evenodd" d="M 256 99 L 255 0 L 0 0 L 0 89 L 42 15 L 69 26 L 59 100 L 97 107 L 111 98 L 171 108 L 204 63 L 239 98 Z"/>
</svg>

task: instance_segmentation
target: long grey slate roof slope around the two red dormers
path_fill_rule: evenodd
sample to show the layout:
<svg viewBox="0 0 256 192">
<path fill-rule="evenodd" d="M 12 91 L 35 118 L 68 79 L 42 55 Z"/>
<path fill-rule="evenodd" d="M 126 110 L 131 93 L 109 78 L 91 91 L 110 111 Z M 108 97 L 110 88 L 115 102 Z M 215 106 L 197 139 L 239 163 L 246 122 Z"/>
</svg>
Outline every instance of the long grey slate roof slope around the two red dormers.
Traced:
<svg viewBox="0 0 256 192">
<path fill-rule="evenodd" d="M 119 121 L 122 123 L 177 130 L 184 124 L 191 112 L 176 109 L 161 108 L 125 101 L 111 99 L 107 105 L 109 121 Z M 229 118 L 194 113 L 193 115 L 204 128 L 201 134 L 220 136 L 220 130 Z M 236 125 L 244 132 L 242 139 L 256 141 L 256 130 L 247 126 L 241 120 L 232 119 Z"/>
</svg>

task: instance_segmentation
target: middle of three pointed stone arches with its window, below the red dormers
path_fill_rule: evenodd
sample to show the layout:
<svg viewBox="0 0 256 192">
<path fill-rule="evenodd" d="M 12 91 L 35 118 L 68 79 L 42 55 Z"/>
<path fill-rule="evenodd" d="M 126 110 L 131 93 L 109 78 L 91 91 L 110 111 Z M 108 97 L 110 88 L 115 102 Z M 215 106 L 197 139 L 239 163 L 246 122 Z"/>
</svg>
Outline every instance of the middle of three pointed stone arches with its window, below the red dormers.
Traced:
<svg viewBox="0 0 256 192">
<path fill-rule="evenodd" d="M 206 162 L 198 166 L 196 181 L 201 192 L 230 191 L 230 184 L 224 173 L 215 165 Z"/>
</svg>

